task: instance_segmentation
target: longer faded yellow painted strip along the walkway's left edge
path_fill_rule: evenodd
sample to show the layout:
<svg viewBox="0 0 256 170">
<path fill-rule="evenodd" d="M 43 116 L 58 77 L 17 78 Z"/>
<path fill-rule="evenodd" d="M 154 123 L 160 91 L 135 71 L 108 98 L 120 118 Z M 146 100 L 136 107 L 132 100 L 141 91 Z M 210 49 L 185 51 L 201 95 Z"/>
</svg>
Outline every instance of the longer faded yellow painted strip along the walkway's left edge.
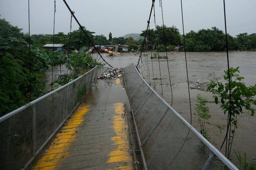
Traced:
<svg viewBox="0 0 256 170">
<path fill-rule="evenodd" d="M 72 117 L 76 117 L 76 119 L 69 119 L 67 125 L 63 129 L 74 129 L 75 127 L 78 127 L 83 122 L 83 115 L 85 115 L 88 112 L 88 106 L 79 107 L 78 113 L 75 113 Z M 83 110 L 83 113 L 82 111 Z M 78 116 L 79 115 L 79 116 Z M 79 117 L 79 118 L 78 118 Z M 77 122 L 77 119 L 79 119 L 79 122 Z M 51 146 L 49 147 L 49 150 L 53 149 L 53 152 L 51 151 L 49 153 L 44 153 L 42 158 L 37 161 L 36 166 L 34 169 L 48 169 L 48 166 L 51 166 L 51 169 L 56 169 L 58 164 L 65 159 L 65 157 L 68 156 L 69 152 L 67 152 L 68 148 L 71 146 L 71 142 L 76 141 L 75 138 L 76 131 L 73 130 L 68 135 L 65 133 L 58 133 Z M 63 138 L 64 137 L 64 138 Z M 60 143 L 60 145 L 57 145 L 57 143 Z"/>
</svg>

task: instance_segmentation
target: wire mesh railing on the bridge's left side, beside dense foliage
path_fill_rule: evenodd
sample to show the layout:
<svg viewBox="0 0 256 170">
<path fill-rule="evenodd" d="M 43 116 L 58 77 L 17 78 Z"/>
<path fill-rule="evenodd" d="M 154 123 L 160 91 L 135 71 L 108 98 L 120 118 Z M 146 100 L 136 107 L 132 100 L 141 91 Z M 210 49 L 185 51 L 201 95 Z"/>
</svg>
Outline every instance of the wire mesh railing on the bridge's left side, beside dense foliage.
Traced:
<svg viewBox="0 0 256 170">
<path fill-rule="evenodd" d="M 25 169 L 83 100 L 97 76 L 96 66 L 72 82 L 0 117 L 0 169 Z"/>
</svg>

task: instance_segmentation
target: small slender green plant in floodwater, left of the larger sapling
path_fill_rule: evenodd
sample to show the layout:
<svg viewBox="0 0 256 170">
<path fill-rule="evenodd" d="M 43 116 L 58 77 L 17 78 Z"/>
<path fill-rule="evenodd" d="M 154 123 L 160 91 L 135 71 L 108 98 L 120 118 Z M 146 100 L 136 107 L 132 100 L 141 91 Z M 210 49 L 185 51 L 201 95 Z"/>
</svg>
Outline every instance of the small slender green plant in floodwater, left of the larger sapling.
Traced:
<svg viewBox="0 0 256 170">
<path fill-rule="evenodd" d="M 206 103 L 208 103 L 208 101 L 205 98 L 202 98 L 200 94 L 197 94 L 196 102 L 198 102 L 198 104 L 196 104 L 195 106 L 196 113 L 194 113 L 194 115 L 198 116 L 198 121 L 201 128 L 200 132 L 205 137 L 205 139 L 210 140 L 211 138 L 209 137 L 208 129 L 206 129 L 205 126 L 205 124 L 210 124 L 207 121 L 211 118 L 209 107 L 206 106 Z"/>
</svg>

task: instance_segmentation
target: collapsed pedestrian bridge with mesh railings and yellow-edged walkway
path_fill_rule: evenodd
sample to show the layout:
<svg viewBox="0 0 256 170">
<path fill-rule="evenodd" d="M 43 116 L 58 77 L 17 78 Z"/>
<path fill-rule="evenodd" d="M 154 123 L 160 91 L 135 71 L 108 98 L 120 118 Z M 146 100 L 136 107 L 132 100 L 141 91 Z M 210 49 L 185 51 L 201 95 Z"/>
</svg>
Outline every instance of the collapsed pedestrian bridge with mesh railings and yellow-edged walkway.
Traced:
<svg viewBox="0 0 256 170">
<path fill-rule="evenodd" d="M 1 117 L 0 169 L 237 169 L 134 63 L 122 79 L 97 80 L 107 70 L 97 66 Z"/>
</svg>

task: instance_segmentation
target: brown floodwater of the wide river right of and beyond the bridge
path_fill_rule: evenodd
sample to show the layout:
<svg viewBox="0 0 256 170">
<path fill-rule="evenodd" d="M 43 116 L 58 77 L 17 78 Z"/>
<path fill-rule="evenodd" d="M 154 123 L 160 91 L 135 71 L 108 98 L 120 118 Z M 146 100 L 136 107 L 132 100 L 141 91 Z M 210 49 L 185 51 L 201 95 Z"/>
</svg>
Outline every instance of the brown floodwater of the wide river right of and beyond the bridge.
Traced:
<svg viewBox="0 0 256 170">
<path fill-rule="evenodd" d="M 155 52 L 152 52 L 154 56 Z M 136 65 L 139 59 L 138 53 L 126 53 L 121 55 L 108 56 L 102 54 L 103 58 L 114 68 L 124 68 L 130 63 L 134 62 Z M 159 53 L 160 56 L 165 56 L 166 53 Z M 182 117 L 190 122 L 190 105 L 188 95 L 187 83 L 187 70 L 189 81 L 189 92 L 191 100 L 192 112 L 192 126 L 200 131 L 200 124 L 197 117 L 194 115 L 196 96 L 200 94 L 206 98 L 209 103 L 207 106 L 210 108 L 212 115 L 207 125 L 209 130 L 210 142 L 216 147 L 220 148 L 225 132 L 227 116 L 224 115 L 220 109 L 220 105 L 216 105 L 211 92 L 205 92 L 207 84 L 210 79 L 218 78 L 219 81 L 223 80 L 224 70 L 227 70 L 227 53 L 226 52 L 187 52 L 187 69 L 184 52 L 168 52 L 168 59 L 152 59 L 151 53 L 143 53 L 142 63 L 140 62 L 140 73 L 142 77 L 151 85 L 152 88 L 168 102 Z M 240 76 L 244 77 L 246 86 L 256 84 L 256 52 L 240 52 L 231 51 L 228 53 L 229 66 L 238 67 Z M 93 58 L 102 61 L 99 55 L 94 54 Z M 168 63 L 167 63 L 168 60 Z M 159 66 L 160 65 L 160 66 Z M 108 66 L 106 64 L 106 66 Z M 168 67 L 169 66 L 169 67 Z M 153 74 L 154 72 L 154 74 Z M 161 78 L 160 79 L 160 73 Z M 171 77 L 171 81 L 169 78 Z M 170 82 L 172 88 L 170 86 Z M 162 84 L 162 85 L 161 85 Z M 254 97 L 256 99 L 256 97 Z M 256 109 L 255 106 L 253 108 Z M 238 128 L 235 132 L 232 149 L 241 152 L 244 155 L 246 152 L 247 161 L 252 162 L 256 159 L 256 116 L 251 116 L 246 110 L 244 114 L 238 116 Z M 225 128 L 222 133 L 219 132 L 214 125 L 219 125 Z M 233 152 L 231 151 L 231 153 Z M 225 154 L 225 147 L 221 152 Z M 232 155 L 232 161 L 236 162 L 235 154 Z"/>
</svg>

